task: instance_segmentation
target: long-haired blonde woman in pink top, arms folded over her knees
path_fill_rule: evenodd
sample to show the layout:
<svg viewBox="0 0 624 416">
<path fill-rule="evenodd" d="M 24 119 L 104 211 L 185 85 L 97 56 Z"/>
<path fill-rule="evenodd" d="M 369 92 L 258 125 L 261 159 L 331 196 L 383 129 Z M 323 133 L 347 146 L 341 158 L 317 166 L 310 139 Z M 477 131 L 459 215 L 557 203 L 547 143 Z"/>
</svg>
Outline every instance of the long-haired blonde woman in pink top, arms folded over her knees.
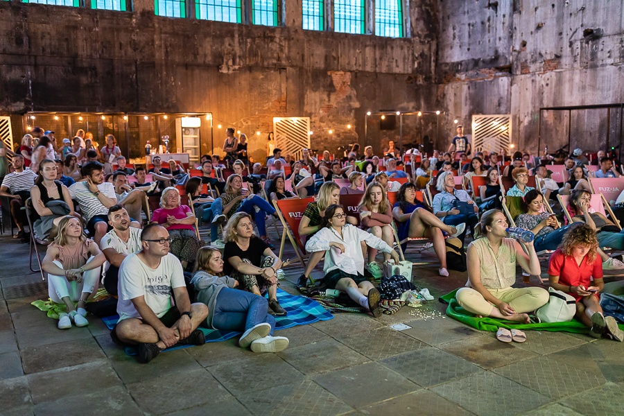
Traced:
<svg viewBox="0 0 624 416">
<path fill-rule="evenodd" d="M 379 182 L 371 182 L 366 188 L 362 202 L 360 202 L 360 220 L 362 228 L 392 247 L 395 241 L 392 232 L 392 206 L 385 194 L 384 187 Z M 381 279 L 381 268 L 376 263 L 377 250 L 368 247 L 368 261 L 366 268 L 376 278 Z M 383 260 L 389 260 L 390 254 L 383 254 Z"/>
</svg>

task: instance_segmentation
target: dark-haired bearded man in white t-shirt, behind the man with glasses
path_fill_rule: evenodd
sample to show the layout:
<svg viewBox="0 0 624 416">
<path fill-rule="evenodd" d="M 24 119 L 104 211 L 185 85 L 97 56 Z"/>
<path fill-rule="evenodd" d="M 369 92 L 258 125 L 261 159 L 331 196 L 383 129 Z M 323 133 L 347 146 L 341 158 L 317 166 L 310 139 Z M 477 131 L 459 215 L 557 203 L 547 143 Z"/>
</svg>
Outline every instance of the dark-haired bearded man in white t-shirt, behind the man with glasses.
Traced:
<svg viewBox="0 0 624 416">
<path fill-rule="evenodd" d="M 106 257 L 104 288 L 111 295 L 117 295 L 119 266 L 129 254 L 141 251 L 141 229 L 130 226 L 128 211 L 121 205 L 108 209 L 108 223 L 113 229 L 100 241 L 100 249 Z"/>
</svg>

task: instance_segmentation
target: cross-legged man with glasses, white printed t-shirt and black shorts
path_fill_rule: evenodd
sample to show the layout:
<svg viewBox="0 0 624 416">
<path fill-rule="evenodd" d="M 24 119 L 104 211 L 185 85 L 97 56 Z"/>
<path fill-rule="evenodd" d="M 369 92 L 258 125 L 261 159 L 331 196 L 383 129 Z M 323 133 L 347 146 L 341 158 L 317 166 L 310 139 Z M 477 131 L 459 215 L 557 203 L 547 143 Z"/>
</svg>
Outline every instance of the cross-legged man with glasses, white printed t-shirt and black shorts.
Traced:
<svg viewBox="0 0 624 416">
<path fill-rule="evenodd" d="M 138 344 L 139 363 L 148 363 L 176 344 L 206 342 L 197 327 L 206 319 L 208 307 L 191 304 L 182 264 L 169 252 L 170 241 L 162 225 L 148 225 L 141 233 L 143 250 L 130 254 L 119 268 L 119 322 L 111 338 L 115 343 Z"/>
</svg>

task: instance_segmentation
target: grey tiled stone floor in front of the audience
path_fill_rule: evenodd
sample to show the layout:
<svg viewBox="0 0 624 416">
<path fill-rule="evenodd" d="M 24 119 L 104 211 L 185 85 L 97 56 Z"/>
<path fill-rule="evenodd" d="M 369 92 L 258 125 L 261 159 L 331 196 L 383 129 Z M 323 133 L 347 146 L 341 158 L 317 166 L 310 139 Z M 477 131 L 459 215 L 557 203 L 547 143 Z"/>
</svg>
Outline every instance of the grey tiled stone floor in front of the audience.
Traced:
<svg viewBox="0 0 624 416">
<path fill-rule="evenodd" d="M 284 257 L 294 257 L 289 246 Z M 97 318 L 59 331 L 31 306 L 47 297 L 47 282 L 27 259 L 28 245 L 0 236 L 1 415 L 622 414 L 623 344 L 535 331 L 525 344 L 503 344 L 437 315 L 437 301 L 422 308 L 435 311 L 427 320 L 404 308 L 279 331 L 291 340 L 280 354 L 228 340 L 140 365 Z M 408 259 L 422 263 L 415 281 L 435 297 L 465 284 L 465 273 L 437 277 L 431 252 Z M 282 288 L 294 293 L 290 281 Z M 390 328 L 397 322 L 411 328 Z"/>
</svg>

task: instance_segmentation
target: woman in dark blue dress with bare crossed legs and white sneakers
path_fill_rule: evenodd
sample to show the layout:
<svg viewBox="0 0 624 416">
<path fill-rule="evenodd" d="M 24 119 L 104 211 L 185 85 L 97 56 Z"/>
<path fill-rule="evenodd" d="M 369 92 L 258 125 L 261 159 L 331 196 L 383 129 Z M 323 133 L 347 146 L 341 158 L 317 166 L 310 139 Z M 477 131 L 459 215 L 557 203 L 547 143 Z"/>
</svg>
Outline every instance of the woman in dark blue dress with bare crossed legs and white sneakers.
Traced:
<svg viewBox="0 0 624 416">
<path fill-rule="evenodd" d="M 399 241 L 408 237 L 426 237 L 433 241 L 433 251 L 440 260 L 438 273 L 440 276 L 448 276 L 447 246 L 444 244 L 442 232 L 447 232 L 453 237 L 459 236 L 465 232 L 466 224 L 462 223 L 457 226 L 444 224 L 440 218 L 433 215 L 428 205 L 416 199 L 416 186 L 410 183 L 401 185 L 392 215 L 397 220 Z"/>
</svg>

